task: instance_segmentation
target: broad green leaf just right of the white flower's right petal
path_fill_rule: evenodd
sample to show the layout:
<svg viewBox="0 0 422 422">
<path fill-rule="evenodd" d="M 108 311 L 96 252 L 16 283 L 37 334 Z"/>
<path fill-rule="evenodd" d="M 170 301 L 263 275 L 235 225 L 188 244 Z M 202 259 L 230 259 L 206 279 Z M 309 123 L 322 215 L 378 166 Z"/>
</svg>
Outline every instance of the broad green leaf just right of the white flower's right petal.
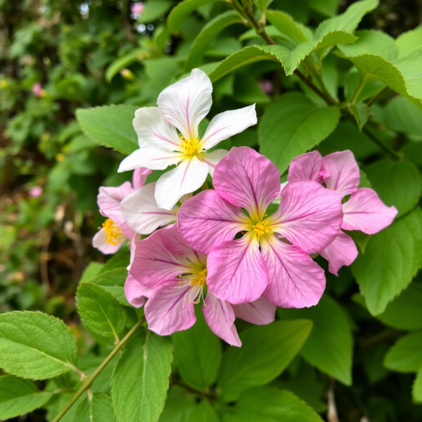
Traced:
<svg viewBox="0 0 422 422">
<path fill-rule="evenodd" d="M 293 158 L 333 132 L 339 119 L 336 107 L 320 108 L 303 94 L 285 94 L 267 108 L 260 120 L 260 151 L 283 173 Z"/>
</svg>

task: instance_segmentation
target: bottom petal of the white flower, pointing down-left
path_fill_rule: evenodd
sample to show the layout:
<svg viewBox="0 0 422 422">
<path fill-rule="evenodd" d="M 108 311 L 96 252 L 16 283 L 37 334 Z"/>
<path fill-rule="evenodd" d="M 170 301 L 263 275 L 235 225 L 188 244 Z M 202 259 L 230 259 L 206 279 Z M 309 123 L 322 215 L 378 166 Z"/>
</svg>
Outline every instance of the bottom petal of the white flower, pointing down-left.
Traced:
<svg viewBox="0 0 422 422">
<path fill-rule="evenodd" d="M 198 157 L 182 161 L 175 169 L 158 179 L 155 186 L 158 206 L 171 210 L 182 196 L 199 189 L 207 179 L 207 174 L 208 165 L 200 162 Z"/>
</svg>

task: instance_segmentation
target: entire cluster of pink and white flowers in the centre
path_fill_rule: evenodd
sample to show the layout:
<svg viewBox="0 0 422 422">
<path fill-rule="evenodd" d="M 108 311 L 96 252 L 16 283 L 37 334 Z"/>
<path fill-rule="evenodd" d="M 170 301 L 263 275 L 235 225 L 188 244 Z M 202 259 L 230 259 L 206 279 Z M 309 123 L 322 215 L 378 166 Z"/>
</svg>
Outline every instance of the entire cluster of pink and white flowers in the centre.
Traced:
<svg viewBox="0 0 422 422">
<path fill-rule="evenodd" d="M 226 111 L 200 136 L 211 94 L 210 79 L 195 69 L 162 91 L 158 107 L 136 110 L 139 149 L 119 169 L 134 170 L 133 186 L 100 188 L 98 207 L 107 219 L 93 244 L 113 253 L 129 240 L 125 292 L 135 307 L 148 298 L 151 330 L 186 330 L 196 321 L 194 304 L 203 302 L 211 330 L 241 346 L 236 317 L 269 324 L 276 306 L 316 305 L 326 279 L 314 254 L 337 274 L 357 257 L 342 229 L 374 234 L 397 210 L 372 189 L 358 188 L 359 167 L 350 151 L 301 155 L 284 184 L 276 166 L 251 148 L 210 151 L 257 123 L 255 105 Z M 146 184 L 152 170 L 172 165 Z"/>
</svg>

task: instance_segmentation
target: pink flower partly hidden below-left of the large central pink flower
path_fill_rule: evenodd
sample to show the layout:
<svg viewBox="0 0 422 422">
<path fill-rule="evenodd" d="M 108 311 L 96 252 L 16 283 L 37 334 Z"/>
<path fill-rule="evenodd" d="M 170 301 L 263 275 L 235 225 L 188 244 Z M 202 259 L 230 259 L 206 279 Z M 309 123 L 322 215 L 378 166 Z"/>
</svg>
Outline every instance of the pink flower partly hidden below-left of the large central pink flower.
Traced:
<svg viewBox="0 0 422 422">
<path fill-rule="evenodd" d="M 160 335 L 169 335 L 195 324 L 194 304 L 203 299 L 207 258 L 186 244 L 176 225 L 155 231 L 136 243 L 129 274 L 138 283 L 139 291 L 153 289 L 145 306 L 148 328 Z M 232 306 L 217 299 L 210 289 L 202 309 L 211 330 L 235 346 L 241 346 L 234 326 L 236 316 L 252 324 L 269 324 L 274 321 L 276 311 L 264 298 Z"/>
</svg>

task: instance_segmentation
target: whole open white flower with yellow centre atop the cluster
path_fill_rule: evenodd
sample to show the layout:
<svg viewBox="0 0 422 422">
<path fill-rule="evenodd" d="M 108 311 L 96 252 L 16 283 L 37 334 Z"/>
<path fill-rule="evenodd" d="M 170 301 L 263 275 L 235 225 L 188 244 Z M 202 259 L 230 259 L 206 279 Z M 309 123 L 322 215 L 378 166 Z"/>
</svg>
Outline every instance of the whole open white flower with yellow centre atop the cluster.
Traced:
<svg viewBox="0 0 422 422">
<path fill-rule="evenodd" d="M 166 88 L 158 97 L 158 107 L 136 110 L 134 129 L 139 149 L 125 158 L 119 172 L 146 167 L 164 170 L 155 186 L 158 207 L 172 210 L 181 196 L 196 191 L 207 174 L 228 152 L 207 152 L 220 141 L 243 132 L 257 123 L 255 104 L 216 115 L 199 139 L 198 126 L 212 105 L 212 84 L 205 72 L 193 69 L 191 75 Z M 179 130 L 179 134 L 177 132 Z"/>
</svg>

